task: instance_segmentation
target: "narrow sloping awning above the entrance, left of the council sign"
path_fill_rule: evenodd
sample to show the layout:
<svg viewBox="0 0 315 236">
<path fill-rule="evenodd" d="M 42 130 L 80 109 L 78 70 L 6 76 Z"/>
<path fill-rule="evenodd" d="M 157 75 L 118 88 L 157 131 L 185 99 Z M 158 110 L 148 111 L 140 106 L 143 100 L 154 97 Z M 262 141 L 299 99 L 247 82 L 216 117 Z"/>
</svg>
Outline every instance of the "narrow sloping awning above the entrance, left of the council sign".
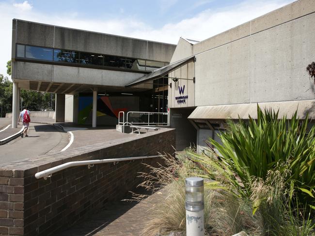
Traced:
<svg viewBox="0 0 315 236">
<path fill-rule="evenodd" d="M 141 84 L 141 83 L 149 81 L 149 80 L 154 80 L 154 79 L 163 77 L 166 74 L 169 74 L 173 70 L 177 69 L 178 67 L 186 64 L 190 60 L 193 60 L 194 58 L 195 58 L 195 56 L 191 56 L 189 58 L 173 62 L 172 64 L 169 64 L 167 66 L 158 68 L 157 70 L 151 72 L 150 74 L 146 74 L 146 75 L 142 76 L 141 78 L 137 79 L 136 81 L 126 85 L 126 87 L 134 86 L 134 85 Z"/>
</svg>

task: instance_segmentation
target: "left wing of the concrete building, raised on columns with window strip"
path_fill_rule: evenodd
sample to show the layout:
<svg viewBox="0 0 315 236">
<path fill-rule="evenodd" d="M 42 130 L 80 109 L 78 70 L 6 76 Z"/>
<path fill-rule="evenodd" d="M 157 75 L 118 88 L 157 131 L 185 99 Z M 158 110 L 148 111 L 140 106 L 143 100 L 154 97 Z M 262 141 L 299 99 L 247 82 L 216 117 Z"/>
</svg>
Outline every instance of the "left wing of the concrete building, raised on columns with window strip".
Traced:
<svg viewBox="0 0 315 236">
<path fill-rule="evenodd" d="M 56 93 L 56 122 L 95 127 L 117 124 L 119 111 L 166 112 L 163 80 L 125 85 L 169 64 L 175 46 L 14 19 L 12 126 L 20 88 Z"/>
</svg>

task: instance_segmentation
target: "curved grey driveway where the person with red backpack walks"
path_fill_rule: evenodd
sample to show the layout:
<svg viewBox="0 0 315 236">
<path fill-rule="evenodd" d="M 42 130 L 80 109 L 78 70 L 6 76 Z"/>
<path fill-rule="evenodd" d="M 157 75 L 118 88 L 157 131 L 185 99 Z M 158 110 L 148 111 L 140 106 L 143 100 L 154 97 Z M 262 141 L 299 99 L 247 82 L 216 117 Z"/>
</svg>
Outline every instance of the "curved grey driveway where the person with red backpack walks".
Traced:
<svg viewBox="0 0 315 236">
<path fill-rule="evenodd" d="M 17 129 L 9 128 L 8 132 L 13 132 L 13 130 L 19 131 L 22 128 L 21 125 L 17 127 Z M 7 135 L 8 132 L 6 130 L 1 133 L 6 133 Z M 54 126 L 47 124 L 31 122 L 28 135 L 29 137 L 18 137 L 7 144 L 1 145 L 0 163 L 61 151 L 69 142 L 67 133 L 60 132 Z"/>
</svg>

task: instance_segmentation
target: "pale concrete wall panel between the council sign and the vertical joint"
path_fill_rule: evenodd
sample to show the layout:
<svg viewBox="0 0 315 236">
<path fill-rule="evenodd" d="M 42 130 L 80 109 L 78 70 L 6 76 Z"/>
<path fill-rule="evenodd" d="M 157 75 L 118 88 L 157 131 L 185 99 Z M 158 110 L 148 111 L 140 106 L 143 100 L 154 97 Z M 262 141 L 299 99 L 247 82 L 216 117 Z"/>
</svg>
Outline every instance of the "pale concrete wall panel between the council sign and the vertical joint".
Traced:
<svg viewBox="0 0 315 236">
<path fill-rule="evenodd" d="M 250 38 L 196 56 L 196 105 L 249 103 Z"/>
</svg>

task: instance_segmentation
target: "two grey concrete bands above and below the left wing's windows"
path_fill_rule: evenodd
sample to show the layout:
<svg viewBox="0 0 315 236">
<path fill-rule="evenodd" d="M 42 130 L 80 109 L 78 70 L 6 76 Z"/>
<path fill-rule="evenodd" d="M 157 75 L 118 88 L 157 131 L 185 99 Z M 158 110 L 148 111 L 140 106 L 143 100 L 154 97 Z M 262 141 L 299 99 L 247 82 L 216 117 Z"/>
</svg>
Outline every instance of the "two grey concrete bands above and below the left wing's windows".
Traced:
<svg viewBox="0 0 315 236">
<path fill-rule="evenodd" d="M 36 37 L 34 37 L 36 35 Z M 59 48 L 81 52 L 114 55 L 135 59 L 169 62 L 175 45 L 127 38 L 78 29 L 68 29 L 23 20 L 13 20 L 12 79 L 21 80 L 20 87 L 30 88 L 30 80 L 50 83 L 110 86 L 124 88 L 126 84 L 140 78 L 141 72 L 132 73 L 110 69 L 82 68 L 56 65 L 30 60 L 16 59 L 16 44 Z M 45 87 L 47 88 L 47 87 Z M 44 89 L 44 88 L 43 88 Z M 42 90 L 38 85 L 37 89 Z M 56 90 L 54 91 L 56 92 Z M 59 91 L 60 92 L 60 91 Z"/>
</svg>

